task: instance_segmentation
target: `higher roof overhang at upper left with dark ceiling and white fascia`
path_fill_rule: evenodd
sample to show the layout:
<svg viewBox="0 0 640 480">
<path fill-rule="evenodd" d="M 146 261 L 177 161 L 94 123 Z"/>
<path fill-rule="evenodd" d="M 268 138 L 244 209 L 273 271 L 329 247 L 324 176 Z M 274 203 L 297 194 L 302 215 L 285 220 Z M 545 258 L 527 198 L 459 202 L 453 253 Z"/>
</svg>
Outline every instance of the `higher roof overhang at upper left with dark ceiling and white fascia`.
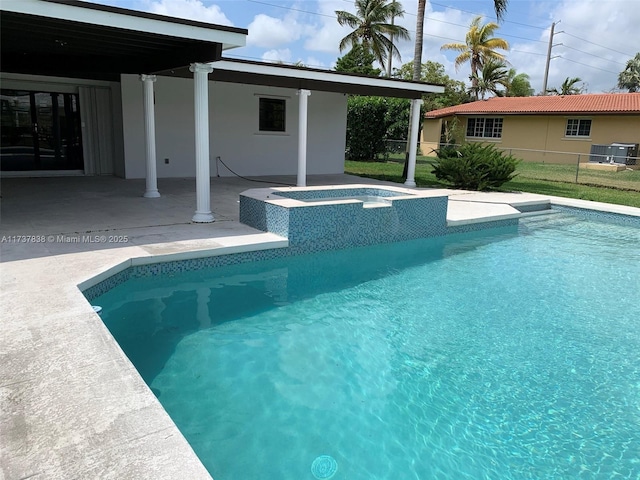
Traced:
<svg viewBox="0 0 640 480">
<path fill-rule="evenodd" d="M 247 30 L 78 0 L 3 1 L 2 71 L 117 80 L 208 63 Z"/>
</svg>

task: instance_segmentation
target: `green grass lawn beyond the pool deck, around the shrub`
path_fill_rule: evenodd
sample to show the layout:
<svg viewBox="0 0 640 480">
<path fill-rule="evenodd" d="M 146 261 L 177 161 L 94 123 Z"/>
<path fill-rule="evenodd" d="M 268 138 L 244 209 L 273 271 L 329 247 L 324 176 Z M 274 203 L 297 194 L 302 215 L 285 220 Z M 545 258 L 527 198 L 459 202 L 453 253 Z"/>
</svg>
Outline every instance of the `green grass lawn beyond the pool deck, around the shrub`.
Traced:
<svg viewBox="0 0 640 480">
<path fill-rule="evenodd" d="M 419 187 L 447 187 L 431 173 L 431 157 L 419 157 L 416 162 L 416 184 Z M 402 183 L 403 162 L 345 162 L 345 173 Z M 522 162 L 518 176 L 505 183 L 500 191 L 520 191 L 616 203 L 640 208 L 640 170 L 602 172 L 581 169 L 576 184 L 574 165 L 554 165 Z M 608 186 L 594 186 L 608 185 Z M 613 188 L 615 187 L 615 188 Z"/>
</svg>

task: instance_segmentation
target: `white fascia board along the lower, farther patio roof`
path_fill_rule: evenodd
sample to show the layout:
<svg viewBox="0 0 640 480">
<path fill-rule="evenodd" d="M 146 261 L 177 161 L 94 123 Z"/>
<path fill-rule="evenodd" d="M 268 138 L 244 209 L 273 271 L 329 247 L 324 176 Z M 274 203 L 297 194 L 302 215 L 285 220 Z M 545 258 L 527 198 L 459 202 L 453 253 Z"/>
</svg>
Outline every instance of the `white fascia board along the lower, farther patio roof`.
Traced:
<svg viewBox="0 0 640 480">
<path fill-rule="evenodd" d="M 277 77 L 289 77 L 305 80 L 318 80 L 322 82 L 342 83 L 347 85 L 362 85 L 371 87 L 383 87 L 396 90 L 408 90 L 420 93 L 444 93 L 444 87 L 414 82 L 398 82 L 375 77 L 357 77 L 351 75 L 336 74 L 332 72 L 318 72 L 315 70 L 282 68 L 277 65 L 256 65 L 253 63 L 239 63 L 228 60 L 219 60 L 211 63 L 217 70 L 231 72 L 255 73 L 260 75 L 274 75 Z"/>
</svg>

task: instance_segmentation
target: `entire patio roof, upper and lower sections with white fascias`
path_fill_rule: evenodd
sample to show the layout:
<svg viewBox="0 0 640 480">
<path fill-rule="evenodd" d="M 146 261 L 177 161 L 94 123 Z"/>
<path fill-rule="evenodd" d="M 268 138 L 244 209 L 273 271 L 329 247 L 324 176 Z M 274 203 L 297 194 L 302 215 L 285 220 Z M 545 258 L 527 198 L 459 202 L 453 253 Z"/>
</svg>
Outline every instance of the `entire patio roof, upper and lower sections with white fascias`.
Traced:
<svg viewBox="0 0 640 480">
<path fill-rule="evenodd" d="M 444 88 L 304 67 L 222 59 L 247 30 L 78 0 L 0 3 L 2 71 L 119 81 L 120 74 L 193 78 L 191 63 L 214 63 L 210 80 L 354 95 L 420 98 Z"/>
</svg>

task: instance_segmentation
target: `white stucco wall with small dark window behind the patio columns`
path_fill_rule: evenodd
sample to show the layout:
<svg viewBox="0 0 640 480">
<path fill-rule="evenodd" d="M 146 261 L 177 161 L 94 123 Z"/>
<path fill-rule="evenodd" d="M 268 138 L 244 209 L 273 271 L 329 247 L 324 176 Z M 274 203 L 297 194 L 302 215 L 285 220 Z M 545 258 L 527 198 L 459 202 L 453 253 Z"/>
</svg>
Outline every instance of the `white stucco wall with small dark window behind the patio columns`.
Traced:
<svg viewBox="0 0 640 480">
<path fill-rule="evenodd" d="M 195 176 L 193 81 L 158 77 L 154 84 L 158 177 Z M 286 100 L 286 132 L 258 131 L 260 96 Z M 122 111 L 126 178 L 143 178 L 144 124 L 142 83 L 122 76 Z M 298 154 L 298 95 L 293 89 L 209 82 L 211 175 L 216 157 L 243 176 L 295 175 Z M 309 97 L 307 173 L 344 171 L 347 98 L 311 92 Z M 169 163 L 165 163 L 165 159 Z M 231 176 L 219 165 L 220 176 Z"/>
</svg>

